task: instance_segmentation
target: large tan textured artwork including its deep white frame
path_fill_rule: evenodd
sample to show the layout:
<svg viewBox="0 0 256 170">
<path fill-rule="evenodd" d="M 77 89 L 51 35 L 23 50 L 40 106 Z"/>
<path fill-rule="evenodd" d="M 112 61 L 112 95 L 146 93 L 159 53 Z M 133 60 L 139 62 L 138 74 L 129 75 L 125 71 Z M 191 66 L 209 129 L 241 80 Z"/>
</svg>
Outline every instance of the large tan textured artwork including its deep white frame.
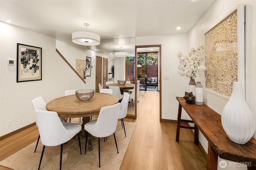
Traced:
<svg viewBox="0 0 256 170">
<path fill-rule="evenodd" d="M 205 90 L 229 98 L 233 82 L 245 93 L 244 4 L 204 34 Z"/>
</svg>

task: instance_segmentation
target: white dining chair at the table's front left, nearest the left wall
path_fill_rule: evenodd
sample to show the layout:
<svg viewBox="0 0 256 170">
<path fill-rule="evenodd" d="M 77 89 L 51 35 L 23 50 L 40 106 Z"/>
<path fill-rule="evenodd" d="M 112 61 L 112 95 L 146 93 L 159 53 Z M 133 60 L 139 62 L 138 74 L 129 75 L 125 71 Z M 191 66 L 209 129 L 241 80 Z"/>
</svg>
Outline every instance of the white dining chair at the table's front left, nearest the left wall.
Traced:
<svg viewBox="0 0 256 170">
<path fill-rule="evenodd" d="M 34 110 L 36 116 L 36 123 L 44 145 L 38 170 L 40 169 L 42 158 L 44 155 L 45 146 L 54 147 L 60 145 L 60 170 L 62 166 L 62 148 L 63 143 L 68 142 L 75 135 L 78 135 L 78 142 L 80 147 L 80 154 L 82 154 L 79 132 L 82 126 L 75 123 L 61 122 L 58 114 L 55 111 Z"/>
</svg>

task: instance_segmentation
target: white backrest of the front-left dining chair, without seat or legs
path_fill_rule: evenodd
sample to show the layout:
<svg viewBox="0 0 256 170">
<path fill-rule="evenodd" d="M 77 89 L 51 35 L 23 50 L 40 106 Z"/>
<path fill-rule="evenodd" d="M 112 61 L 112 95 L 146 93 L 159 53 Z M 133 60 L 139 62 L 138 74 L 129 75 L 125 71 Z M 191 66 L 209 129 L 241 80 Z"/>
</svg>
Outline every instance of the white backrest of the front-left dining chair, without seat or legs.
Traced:
<svg viewBox="0 0 256 170">
<path fill-rule="evenodd" d="M 40 139 L 45 146 L 57 146 L 67 142 L 66 129 L 55 111 L 35 109 L 36 123 Z M 67 140 L 67 141 L 66 141 Z"/>
</svg>

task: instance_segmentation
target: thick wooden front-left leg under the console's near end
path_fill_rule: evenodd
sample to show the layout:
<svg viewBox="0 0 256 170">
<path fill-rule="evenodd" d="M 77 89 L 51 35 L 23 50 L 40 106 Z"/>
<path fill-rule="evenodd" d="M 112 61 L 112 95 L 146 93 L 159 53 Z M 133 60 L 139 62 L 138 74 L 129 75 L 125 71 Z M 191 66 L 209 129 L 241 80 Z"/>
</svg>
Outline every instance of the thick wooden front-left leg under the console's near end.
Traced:
<svg viewBox="0 0 256 170">
<path fill-rule="evenodd" d="M 217 169 L 218 169 L 218 154 L 212 148 L 210 143 L 208 143 L 207 170 L 217 170 Z"/>
</svg>

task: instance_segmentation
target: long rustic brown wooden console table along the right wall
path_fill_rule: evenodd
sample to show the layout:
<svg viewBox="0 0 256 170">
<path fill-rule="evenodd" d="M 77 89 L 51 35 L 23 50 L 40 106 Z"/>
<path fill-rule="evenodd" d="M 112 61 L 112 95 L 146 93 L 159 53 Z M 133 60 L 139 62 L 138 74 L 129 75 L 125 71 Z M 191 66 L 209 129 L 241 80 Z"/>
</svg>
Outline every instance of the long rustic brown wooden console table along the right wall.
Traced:
<svg viewBox="0 0 256 170">
<path fill-rule="evenodd" d="M 221 124 L 221 115 L 206 105 L 186 104 L 182 97 L 176 97 L 179 102 L 176 142 L 179 141 L 180 128 L 194 129 L 194 143 L 198 144 L 198 129 L 208 141 L 207 170 L 217 170 L 218 156 L 234 162 L 247 162 L 248 170 L 256 170 L 256 140 L 240 145 L 230 141 Z M 183 109 L 191 120 L 181 119 Z M 194 123 L 194 127 L 180 125 L 181 122 Z M 228 166 L 228 165 L 227 165 Z"/>
</svg>

